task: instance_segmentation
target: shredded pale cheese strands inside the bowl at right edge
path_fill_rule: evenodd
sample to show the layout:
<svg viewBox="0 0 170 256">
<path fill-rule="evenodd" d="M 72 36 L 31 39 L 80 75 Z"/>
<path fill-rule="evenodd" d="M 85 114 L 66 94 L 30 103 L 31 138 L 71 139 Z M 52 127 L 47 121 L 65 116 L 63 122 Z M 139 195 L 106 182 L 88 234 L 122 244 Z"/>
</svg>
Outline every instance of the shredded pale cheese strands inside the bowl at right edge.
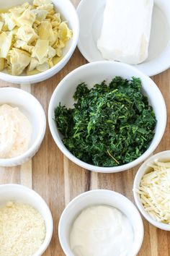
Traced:
<svg viewBox="0 0 170 256">
<path fill-rule="evenodd" d="M 170 162 L 154 161 L 137 192 L 146 212 L 155 221 L 170 224 Z"/>
</svg>

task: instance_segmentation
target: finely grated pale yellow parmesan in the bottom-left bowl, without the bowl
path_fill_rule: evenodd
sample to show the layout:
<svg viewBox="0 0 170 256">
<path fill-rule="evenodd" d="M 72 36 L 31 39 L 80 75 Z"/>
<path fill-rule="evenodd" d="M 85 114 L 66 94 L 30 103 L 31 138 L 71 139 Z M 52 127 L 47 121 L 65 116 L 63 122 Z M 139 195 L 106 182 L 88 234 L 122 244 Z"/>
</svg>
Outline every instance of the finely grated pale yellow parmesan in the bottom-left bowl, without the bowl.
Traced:
<svg viewBox="0 0 170 256">
<path fill-rule="evenodd" d="M 45 221 L 37 210 L 19 202 L 0 208 L 0 256 L 31 256 L 45 239 Z"/>
</svg>

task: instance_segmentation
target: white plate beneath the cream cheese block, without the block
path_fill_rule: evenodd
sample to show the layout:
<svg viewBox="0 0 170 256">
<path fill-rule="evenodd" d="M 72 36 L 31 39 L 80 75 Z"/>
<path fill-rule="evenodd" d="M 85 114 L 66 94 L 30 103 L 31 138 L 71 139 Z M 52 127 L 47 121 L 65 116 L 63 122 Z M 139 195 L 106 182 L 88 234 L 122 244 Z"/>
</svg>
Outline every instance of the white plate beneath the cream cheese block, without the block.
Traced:
<svg viewBox="0 0 170 256">
<path fill-rule="evenodd" d="M 80 20 L 78 47 L 89 62 L 102 61 L 97 48 L 101 33 L 106 0 L 81 0 L 77 7 Z M 88 13 L 88 18 L 87 18 Z M 151 25 L 151 38 L 148 58 L 143 63 L 133 65 L 145 74 L 152 76 L 170 67 L 170 5 L 167 0 L 154 0 Z"/>
</svg>

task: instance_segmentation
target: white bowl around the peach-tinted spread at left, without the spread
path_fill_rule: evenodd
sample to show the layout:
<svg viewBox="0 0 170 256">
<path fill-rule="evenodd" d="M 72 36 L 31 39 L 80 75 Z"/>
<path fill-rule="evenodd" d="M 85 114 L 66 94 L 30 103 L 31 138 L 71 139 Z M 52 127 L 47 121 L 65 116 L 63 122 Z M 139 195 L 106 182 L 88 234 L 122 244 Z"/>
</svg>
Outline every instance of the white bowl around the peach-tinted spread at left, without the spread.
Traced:
<svg viewBox="0 0 170 256">
<path fill-rule="evenodd" d="M 17 166 L 32 158 L 40 148 L 45 136 L 45 112 L 37 99 L 30 93 L 17 88 L 0 88 L 0 106 L 17 106 L 32 124 L 32 137 L 29 148 L 14 158 L 0 158 L 0 166 Z"/>
</svg>

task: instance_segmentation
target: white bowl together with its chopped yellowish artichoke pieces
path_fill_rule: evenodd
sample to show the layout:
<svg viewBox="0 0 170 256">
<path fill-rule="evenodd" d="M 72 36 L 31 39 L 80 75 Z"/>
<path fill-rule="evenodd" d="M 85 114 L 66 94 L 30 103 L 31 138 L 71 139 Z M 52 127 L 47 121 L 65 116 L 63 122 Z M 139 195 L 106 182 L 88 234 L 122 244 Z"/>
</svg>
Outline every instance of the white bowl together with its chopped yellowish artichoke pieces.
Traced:
<svg viewBox="0 0 170 256">
<path fill-rule="evenodd" d="M 0 74 L 1 80 L 7 82 L 29 84 L 52 77 L 67 64 L 79 38 L 79 20 L 71 1 L 27 2 L 15 0 L 0 4 L 4 10 Z"/>
</svg>

